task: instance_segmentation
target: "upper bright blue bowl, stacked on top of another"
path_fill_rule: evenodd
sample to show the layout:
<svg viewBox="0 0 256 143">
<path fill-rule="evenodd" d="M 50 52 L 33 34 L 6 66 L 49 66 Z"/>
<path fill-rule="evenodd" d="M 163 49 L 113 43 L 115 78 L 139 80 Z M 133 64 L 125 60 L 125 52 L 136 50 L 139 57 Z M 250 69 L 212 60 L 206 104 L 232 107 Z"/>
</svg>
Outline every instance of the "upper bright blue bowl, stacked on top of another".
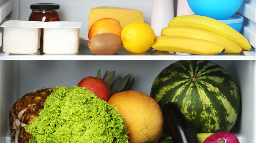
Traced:
<svg viewBox="0 0 256 143">
<path fill-rule="evenodd" d="M 187 0 L 196 15 L 224 20 L 236 13 L 243 0 Z"/>
</svg>

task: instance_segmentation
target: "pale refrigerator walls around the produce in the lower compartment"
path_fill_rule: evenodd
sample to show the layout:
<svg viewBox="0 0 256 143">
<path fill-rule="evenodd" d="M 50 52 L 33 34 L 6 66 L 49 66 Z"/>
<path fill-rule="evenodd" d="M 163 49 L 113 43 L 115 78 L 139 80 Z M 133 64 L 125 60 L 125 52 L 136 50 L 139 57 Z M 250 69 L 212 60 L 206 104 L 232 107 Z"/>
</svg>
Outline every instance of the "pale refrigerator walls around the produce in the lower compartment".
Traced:
<svg viewBox="0 0 256 143">
<path fill-rule="evenodd" d="M 27 92 L 43 87 L 73 87 L 83 77 L 95 76 L 100 69 L 116 71 L 135 78 L 132 89 L 150 95 L 157 74 L 176 60 L 3 60 L 1 64 L 1 142 L 10 142 L 8 125 L 10 105 Z M 242 108 L 232 129 L 241 143 L 255 142 L 255 61 L 212 60 L 227 70 L 235 80 Z M 125 66 L 123 66 L 125 65 Z M 143 66 L 142 66 L 143 65 Z M 2 68 L 3 67 L 3 68 Z M 121 67 L 121 68 L 120 68 Z"/>
</svg>

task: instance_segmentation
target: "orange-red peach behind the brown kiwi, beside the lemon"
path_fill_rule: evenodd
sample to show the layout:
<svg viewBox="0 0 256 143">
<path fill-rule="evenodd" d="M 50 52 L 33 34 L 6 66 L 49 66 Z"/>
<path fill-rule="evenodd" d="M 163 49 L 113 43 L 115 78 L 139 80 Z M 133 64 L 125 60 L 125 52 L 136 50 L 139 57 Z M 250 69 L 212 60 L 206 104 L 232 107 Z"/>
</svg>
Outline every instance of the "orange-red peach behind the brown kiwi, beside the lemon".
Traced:
<svg viewBox="0 0 256 143">
<path fill-rule="evenodd" d="M 120 37 L 122 29 L 123 28 L 118 20 L 107 17 L 101 18 L 92 24 L 88 32 L 88 38 L 90 40 L 96 34 L 101 33 L 114 33 Z"/>
</svg>

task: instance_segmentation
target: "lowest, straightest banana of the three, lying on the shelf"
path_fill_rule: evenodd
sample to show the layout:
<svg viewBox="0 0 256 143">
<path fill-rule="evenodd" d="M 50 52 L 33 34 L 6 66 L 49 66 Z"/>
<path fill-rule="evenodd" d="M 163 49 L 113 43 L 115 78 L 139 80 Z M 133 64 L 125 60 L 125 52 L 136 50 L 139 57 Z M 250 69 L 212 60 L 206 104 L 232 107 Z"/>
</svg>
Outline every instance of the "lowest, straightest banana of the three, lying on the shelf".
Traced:
<svg viewBox="0 0 256 143">
<path fill-rule="evenodd" d="M 207 40 L 181 36 L 156 36 L 151 46 L 158 51 L 214 55 L 224 51 L 224 47 Z"/>
</svg>

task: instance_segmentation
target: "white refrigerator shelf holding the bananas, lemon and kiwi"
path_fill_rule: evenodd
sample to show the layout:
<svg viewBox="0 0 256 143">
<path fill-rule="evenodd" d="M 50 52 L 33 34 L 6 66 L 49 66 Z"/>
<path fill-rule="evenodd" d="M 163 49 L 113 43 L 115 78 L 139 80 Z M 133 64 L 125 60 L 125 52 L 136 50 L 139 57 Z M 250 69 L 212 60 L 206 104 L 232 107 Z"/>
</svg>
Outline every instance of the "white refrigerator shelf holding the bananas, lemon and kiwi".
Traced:
<svg viewBox="0 0 256 143">
<path fill-rule="evenodd" d="M 82 42 L 80 42 L 82 43 Z M 154 49 L 142 53 L 141 55 L 132 55 L 123 47 L 117 52 L 119 55 L 93 55 L 88 45 L 82 43 L 78 53 L 74 55 L 45 55 L 38 51 L 36 54 L 19 55 L 8 54 L 0 51 L 0 60 L 256 60 L 255 49 L 243 51 L 240 55 L 174 55 L 168 52 L 155 53 Z"/>
</svg>

